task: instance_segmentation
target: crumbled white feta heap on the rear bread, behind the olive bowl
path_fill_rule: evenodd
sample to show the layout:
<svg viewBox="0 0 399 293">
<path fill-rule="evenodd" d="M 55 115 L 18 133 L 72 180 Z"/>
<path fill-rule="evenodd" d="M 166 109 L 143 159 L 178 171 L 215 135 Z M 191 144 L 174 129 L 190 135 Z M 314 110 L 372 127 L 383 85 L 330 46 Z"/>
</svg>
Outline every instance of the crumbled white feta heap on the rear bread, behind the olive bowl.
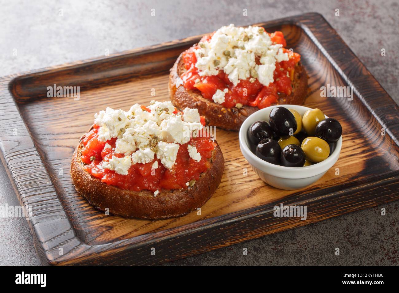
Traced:
<svg viewBox="0 0 399 293">
<path fill-rule="evenodd" d="M 267 86 L 273 82 L 270 66 L 275 65 L 276 61 L 288 60 L 288 54 L 283 53 L 282 45 L 274 44 L 269 34 L 256 26 L 223 26 L 215 31 L 209 42 L 201 42 L 199 45 L 200 48 L 194 50 L 198 74 L 217 75 L 219 70 L 223 70 L 235 86 L 240 80 L 253 76 L 251 73 L 255 71 L 258 76 L 253 77 L 259 78 L 259 82 Z M 259 57 L 260 63 L 267 66 L 258 68 L 255 57 Z"/>
</svg>

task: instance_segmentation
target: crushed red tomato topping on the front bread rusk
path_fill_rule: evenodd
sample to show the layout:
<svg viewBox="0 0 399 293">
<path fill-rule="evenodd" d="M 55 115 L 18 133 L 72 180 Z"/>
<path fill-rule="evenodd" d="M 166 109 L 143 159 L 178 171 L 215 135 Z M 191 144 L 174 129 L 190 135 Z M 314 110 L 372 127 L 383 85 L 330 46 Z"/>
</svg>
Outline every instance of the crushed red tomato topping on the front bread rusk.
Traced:
<svg viewBox="0 0 399 293">
<path fill-rule="evenodd" d="M 146 108 L 143 110 L 146 110 Z M 201 117 L 202 124 L 205 123 Z M 117 138 L 111 138 L 107 142 L 98 139 L 99 126 L 94 125 L 82 140 L 83 148 L 81 160 L 85 164 L 85 171 L 93 177 L 99 178 L 108 185 L 114 185 L 121 189 L 142 191 L 148 189 L 152 192 L 164 189 L 186 189 L 187 182 L 198 180 L 201 173 L 207 171 L 211 164 L 209 158 L 215 149 L 215 142 L 208 137 L 192 137 L 186 144 L 179 145 L 176 164 L 172 169 L 166 169 L 160 160 L 155 156 L 149 163 L 137 163 L 130 167 L 127 175 L 120 175 L 110 169 L 101 167 L 104 158 L 111 159 L 112 156 L 124 157 L 124 154 L 115 153 L 115 142 Z M 111 148 L 105 148 L 105 144 Z M 201 160 L 195 161 L 189 156 L 187 146 L 194 146 L 201 154 Z M 153 169 L 152 164 L 158 161 L 158 168 Z"/>
</svg>

